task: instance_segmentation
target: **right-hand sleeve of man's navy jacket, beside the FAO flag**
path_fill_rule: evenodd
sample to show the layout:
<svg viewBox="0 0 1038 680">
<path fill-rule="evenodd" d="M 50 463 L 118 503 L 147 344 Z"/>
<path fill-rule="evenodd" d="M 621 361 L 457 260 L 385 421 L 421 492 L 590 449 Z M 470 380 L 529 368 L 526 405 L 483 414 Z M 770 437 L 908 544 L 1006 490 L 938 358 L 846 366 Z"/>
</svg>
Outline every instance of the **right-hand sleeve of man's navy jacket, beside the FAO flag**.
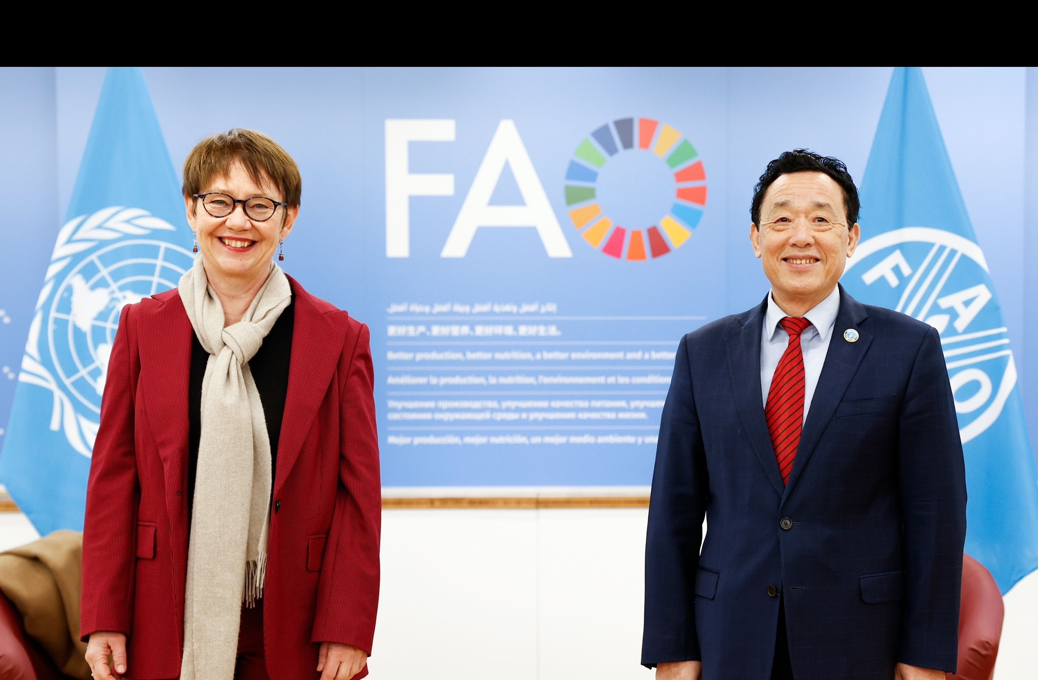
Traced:
<svg viewBox="0 0 1038 680">
<path fill-rule="evenodd" d="M 898 660 L 954 672 L 966 531 L 965 466 L 940 338 L 932 328 L 908 379 L 898 443 L 905 555 Z"/>
</svg>

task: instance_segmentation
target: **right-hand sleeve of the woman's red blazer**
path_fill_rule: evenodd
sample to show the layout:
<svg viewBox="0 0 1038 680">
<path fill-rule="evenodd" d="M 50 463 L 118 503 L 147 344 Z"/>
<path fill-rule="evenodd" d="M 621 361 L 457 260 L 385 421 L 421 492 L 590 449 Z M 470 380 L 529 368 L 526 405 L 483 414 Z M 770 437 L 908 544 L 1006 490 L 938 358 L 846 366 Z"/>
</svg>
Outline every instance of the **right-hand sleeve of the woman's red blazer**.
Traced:
<svg viewBox="0 0 1038 680">
<path fill-rule="evenodd" d="M 379 604 L 382 484 L 375 423 L 371 335 L 360 325 L 339 374 L 339 465 L 335 511 L 318 584 L 313 642 L 346 643 L 368 654 Z"/>
</svg>

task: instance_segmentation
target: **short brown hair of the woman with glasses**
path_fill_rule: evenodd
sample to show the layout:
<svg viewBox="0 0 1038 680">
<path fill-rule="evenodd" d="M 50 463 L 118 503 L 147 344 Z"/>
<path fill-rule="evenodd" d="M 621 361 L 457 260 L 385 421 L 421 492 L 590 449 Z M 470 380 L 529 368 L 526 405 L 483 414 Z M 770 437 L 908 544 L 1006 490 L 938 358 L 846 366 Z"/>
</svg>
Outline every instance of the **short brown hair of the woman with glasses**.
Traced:
<svg viewBox="0 0 1038 680">
<path fill-rule="evenodd" d="M 216 178 L 222 178 L 239 162 L 257 185 L 266 180 L 283 194 L 281 200 L 295 208 L 303 193 L 299 166 L 276 141 L 255 130 L 235 128 L 198 142 L 184 161 L 184 196 L 201 193 Z M 273 196 L 271 196 L 273 198 Z"/>
</svg>

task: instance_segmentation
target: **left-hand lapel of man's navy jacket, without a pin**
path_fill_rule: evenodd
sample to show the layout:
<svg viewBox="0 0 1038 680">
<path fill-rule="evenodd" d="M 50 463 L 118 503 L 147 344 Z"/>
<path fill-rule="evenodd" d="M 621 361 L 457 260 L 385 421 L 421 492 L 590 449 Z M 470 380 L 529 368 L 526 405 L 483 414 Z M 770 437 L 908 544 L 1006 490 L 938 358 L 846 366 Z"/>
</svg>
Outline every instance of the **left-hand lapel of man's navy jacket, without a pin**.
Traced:
<svg viewBox="0 0 1038 680">
<path fill-rule="evenodd" d="M 739 318 L 739 328 L 728 336 L 728 368 L 732 376 L 732 389 L 742 427 L 764 468 L 775 493 L 782 495 L 782 474 L 775 462 L 771 435 L 764 419 L 764 402 L 761 396 L 761 332 L 764 324 L 764 303 Z"/>
</svg>

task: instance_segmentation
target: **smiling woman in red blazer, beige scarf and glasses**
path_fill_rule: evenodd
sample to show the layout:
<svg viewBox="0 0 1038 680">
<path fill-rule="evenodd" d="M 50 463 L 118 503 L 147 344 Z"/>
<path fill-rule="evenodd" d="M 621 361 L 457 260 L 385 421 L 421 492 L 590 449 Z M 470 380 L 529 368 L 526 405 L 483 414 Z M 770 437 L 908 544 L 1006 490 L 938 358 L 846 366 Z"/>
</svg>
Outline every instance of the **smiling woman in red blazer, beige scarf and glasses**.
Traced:
<svg viewBox="0 0 1038 680">
<path fill-rule="evenodd" d="M 108 365 L 83 535 L 80 630 L 89 643 L 87 661 L 97 680 L 227 678 L 226 663 L 207 661 L 212 650 L 206 646 L 221 643 L 197 614 L 214 598 L 186 611 L 186 601 L 189 606 L 192 593 L 204 593 L 199 582 L 207 581 L 215 599 L 229 598 L 235 607 L 241 602 L 240 619 L 234 610 L 238 625 L 230 626 L 239 630 L 228 633 L 237 644 L 233 637 L 222 643 L 230 646 L 223 652 L 236 678 L 313 680 L 318 672 L 325 680 L 362 678 L 378 606 L 381 516 L 367 327 L 295 279 L 280 278 L 271 263 L 301 194 L 295 162 L 273 140 L 245 130 L 211 137 L 188 157 L 184 176 L 188 221 L 200 249 L 195 269 L 180 289 L 124 307 Z M 192 272 L 201 283 L 186 289 Z M 219 300 L 208 309 L 223 314 L 216 336 L 234 338 L 235 324 L 244 319 L 240 330 L 254 321 L 275 283 L 283 290 L 276 320 L 238 372 L 239 379 L 251 376 L 246 381 L 254 388 L 247 393 L 262 401 L 258 419 L 268 436 L 255 441 L 269 441 L 269 457 L 258 443 L 247 444 L 249 456 L 254 446 L 258 452 L 253 479 L 268 460 L 270 468 L 267 486 L 253 482 L 245 490 L 253 493 L 253 510 L 243 511 L 251 529 L 256 517 L 265 520 L 263 554 L 258 571 L 252 561 L 251 576 L 238 573 L 239 563 L 226 574 L 207 573 L 197 565 L 208 564 L 208 555 L 196 549 L 189 561 L 192 542 L 210 552 L 224 542 L 204 543 L 212 537 L 193 533 L 192 523 L 209 521 L 219 531 L 223 506 L 207 506 L 206 498 L 224 498 L 201 491 L 212 486 L 204 475 L 213 461 L 222 462 L 223 447 L 243 438 L 212 443 L 216 420 L 201 414 L 216 412 L 206 410 L 217 390 L 207 366 L 215 373 L 219 361 L 199 339 L 199 312 L 189 315 L 188 307 L 208 290 Z M 236 484 L 237 478 L 228 480 L 228 496 Z M 266 493 L 268 487 L 269 504 L 257 514 L 254 489 Z M 230 538 L 237 545 L 238 537 Z M 243 573 L 247 564 L 240 563 Z M 187 575 L 192 565 L 194 586 Z M 252 580 L 237 586 L 243 578 Z M 191 653 L 186 636 L 194 640 Z M 209 652 L 195 653 L 202 648 Z"/>
</svg>

